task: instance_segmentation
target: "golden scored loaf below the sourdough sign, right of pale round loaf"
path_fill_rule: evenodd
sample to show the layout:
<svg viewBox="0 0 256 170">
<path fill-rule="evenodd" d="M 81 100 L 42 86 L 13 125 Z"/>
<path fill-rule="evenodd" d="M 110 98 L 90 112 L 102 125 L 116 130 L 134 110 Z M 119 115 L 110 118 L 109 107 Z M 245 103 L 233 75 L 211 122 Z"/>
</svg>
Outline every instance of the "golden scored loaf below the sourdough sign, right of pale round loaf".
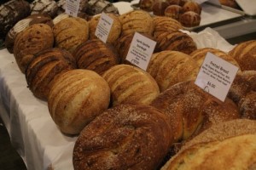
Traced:
<svg viewBox="0 0 256 170">
<path fill-rule="evenodd" d="M 160 93 L 154 78 L 136 66 L 114 65 L 102 77 L 111 89 L 113 106 L 122 103 L 149 104 Z"/>
</svg>

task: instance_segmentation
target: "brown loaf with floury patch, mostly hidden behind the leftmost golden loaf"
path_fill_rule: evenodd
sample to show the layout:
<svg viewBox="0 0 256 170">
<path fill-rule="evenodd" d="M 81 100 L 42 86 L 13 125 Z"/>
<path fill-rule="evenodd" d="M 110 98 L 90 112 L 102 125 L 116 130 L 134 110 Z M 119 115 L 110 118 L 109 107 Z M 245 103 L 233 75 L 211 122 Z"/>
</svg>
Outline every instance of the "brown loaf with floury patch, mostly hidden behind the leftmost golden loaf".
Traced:
<svg viewBox="0 0 256 170">
<path fill-rule="evenodd" d="M 5 46 L 9 53 L 14 53 L 15 37 L 20 31 L 23 31 L 26 27 L 32 26 L 33 24 L 47 24 L 50 27 L 53 26 L 53 22 L 49 16 L 44 14 L 32 14 L 23 20 L 20 20 L 12 27 L 5 37 Z"/>
</svg>

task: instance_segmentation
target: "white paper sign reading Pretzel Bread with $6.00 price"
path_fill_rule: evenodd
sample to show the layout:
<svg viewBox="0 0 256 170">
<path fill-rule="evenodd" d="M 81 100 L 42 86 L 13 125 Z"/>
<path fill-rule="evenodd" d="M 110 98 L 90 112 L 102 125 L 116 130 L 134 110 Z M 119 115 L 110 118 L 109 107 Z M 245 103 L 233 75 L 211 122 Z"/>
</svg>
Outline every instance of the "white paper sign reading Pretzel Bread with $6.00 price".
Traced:
<svg viewBox="0 0 256 170">
<path fill-rule="evenodd" d="M 207 53 L 195 84 L 224 101 L 237 71 L 236 65 L 232 65 L 212 53 Z"/>
</svg>

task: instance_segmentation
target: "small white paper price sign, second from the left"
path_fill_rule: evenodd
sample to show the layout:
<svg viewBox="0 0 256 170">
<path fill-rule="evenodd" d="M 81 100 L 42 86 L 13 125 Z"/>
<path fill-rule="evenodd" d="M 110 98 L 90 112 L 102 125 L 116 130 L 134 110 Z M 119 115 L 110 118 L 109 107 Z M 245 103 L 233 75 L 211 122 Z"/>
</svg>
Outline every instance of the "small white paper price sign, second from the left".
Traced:
<svg viewBox="0 0 256 170">
<path fill-rule="evenodd" d="M 108 34 L 111 31 L 112 25 L 113 25 L 113 19 L 109 17 L 107 14 L 102 13 L 95 31 L 96 37 L 102 40 L 102 42 L 106 43 L 108 39 Z"/>
</svg>

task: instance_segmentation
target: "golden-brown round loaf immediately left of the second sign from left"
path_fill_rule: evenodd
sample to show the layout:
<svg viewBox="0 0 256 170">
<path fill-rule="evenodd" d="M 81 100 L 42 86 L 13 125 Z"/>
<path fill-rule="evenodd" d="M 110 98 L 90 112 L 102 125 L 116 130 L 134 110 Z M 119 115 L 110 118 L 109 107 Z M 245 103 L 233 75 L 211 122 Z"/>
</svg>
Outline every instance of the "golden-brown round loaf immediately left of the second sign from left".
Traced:
<svg viewBox="0 0 256 170">
<path fill-rule="evenodd" d="M 89 24 L 79 17 L 69 17 L 53 27 L 55 47 L 63 48 L 73 54 L 82 42 L 89 38 Z"/>
</svg>

